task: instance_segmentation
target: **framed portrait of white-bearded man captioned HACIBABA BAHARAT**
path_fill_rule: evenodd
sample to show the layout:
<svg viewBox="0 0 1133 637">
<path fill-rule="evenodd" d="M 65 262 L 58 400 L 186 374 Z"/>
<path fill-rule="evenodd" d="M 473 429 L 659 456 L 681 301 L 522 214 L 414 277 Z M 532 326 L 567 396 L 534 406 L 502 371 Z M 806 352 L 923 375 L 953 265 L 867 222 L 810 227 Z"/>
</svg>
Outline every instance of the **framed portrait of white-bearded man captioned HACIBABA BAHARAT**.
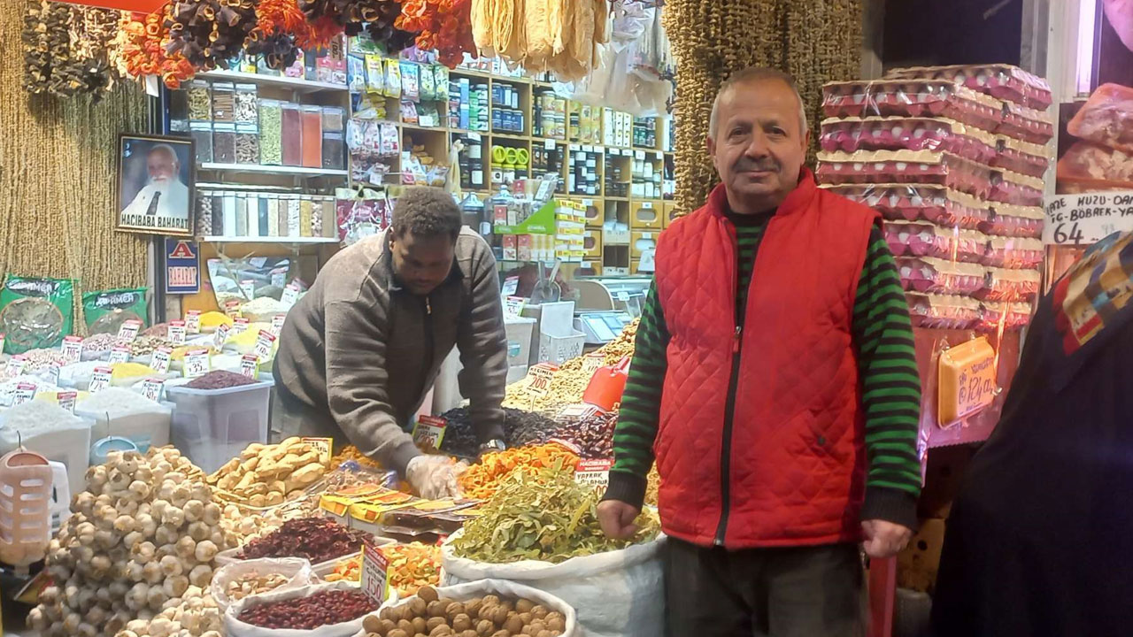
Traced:
<svg viewBox="0 0 1133 637">
<path fill-rule="evenodd" d="M 118 136 L 117 230 L 193 236 L 193 139 Z"/>
</svg>

